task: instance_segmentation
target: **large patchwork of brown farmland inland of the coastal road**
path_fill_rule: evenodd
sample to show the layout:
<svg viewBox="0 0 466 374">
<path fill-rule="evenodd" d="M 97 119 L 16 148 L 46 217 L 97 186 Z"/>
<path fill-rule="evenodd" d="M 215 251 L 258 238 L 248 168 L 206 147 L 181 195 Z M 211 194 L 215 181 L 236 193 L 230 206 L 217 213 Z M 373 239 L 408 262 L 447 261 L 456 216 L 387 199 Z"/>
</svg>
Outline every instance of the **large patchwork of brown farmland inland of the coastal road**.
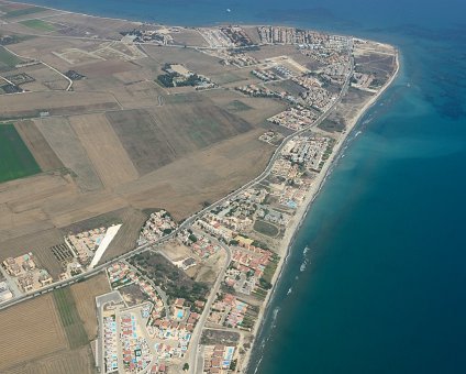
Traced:
<svg viewBox="0 0 466 374">
<path fill-rule="evenodd" d="M 5 13 L 31 8 L 0 1 Z M 136 51 L 120 42 L 120 31 L 137 26 L 130 21 L 51 10 L 44 11 L 47 18 L 30 13 L 26 20 L 25 13 L 0 24 L 1 33 L 18 34 L 8 48 L 31 62 L 15 68 L 21 61 L 3 48 L 4 76 L 26 92 L 2 96 L 0 119 L 14 123 L 23 148 L 43 173 L 1 184 L 2 256 L 31 249 L 57 277 L 60 264 L 51 248 L 70 230 L 103 220 L 123 223 L 102 257 L 109 260 L 134 248 L 147 210 L 165 208 L 181 220 L 267 164 L 274 146 L 258 138 L 266 118 L 285 105 L 226 87 L 182 91 L 155 81 L 165 63 L 230 85 L 249 79 L 248 69 L 222 65 L 192 48 L 144 45 Z M 51 25 L 60 37 L 40 35 L 52 32 Z M 27 38 L 34 30 L 34 38 Z M 204 44 L 196 30 L 174 34 L 179 43 Z M 45 64 L 85 78 L 64 91 L 68 80 Z M 200 276 L 211 278 L 208 271 Z"/>
</svg>

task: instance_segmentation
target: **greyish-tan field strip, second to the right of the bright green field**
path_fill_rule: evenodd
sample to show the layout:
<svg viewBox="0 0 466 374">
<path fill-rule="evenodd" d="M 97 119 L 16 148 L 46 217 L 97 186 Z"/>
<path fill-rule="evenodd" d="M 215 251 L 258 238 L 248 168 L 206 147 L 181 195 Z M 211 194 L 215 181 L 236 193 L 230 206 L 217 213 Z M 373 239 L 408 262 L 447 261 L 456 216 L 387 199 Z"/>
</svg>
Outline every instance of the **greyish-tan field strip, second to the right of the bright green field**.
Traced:
<svg viewBox="0 0 466 374">
<path fill-rule="evenodd" d="M 79 139 L 65 118 L 48 118 L 35 121 L 62 163 L 76 175 L 76 183 L 84 191 L 102 187 L 91 161 Z"/>
</svg>

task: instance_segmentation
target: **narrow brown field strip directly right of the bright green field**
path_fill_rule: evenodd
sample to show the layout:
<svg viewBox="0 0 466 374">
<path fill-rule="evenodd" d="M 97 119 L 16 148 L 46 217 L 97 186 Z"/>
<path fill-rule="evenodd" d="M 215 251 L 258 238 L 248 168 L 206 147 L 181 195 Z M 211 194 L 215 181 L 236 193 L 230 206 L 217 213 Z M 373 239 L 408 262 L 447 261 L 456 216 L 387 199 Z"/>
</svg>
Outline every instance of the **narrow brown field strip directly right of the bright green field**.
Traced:
<svg viewBox="0 0 466 374">
<path fill-rule="evenodd" d="M 20 121 L 14 127 L 43 172 L 64 167 L 33 121 Z"/>
</svg>

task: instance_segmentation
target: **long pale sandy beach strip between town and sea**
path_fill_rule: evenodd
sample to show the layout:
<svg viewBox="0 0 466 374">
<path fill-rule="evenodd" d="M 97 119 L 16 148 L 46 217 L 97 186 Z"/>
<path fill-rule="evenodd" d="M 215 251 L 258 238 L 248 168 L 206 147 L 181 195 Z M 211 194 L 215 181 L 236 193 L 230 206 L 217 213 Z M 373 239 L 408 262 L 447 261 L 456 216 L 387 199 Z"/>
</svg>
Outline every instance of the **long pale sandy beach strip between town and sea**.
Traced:
<svg viewBox="0 0 466 374">
<path fill-rule="evenodd" d="M 333 166 L 335 165 L 335 162 L 339 160 L 339 156 L 341 155 L 341 153 L 344 150 L 344 146 L 346 144 L 346 142 L 348 141 L 348 136 L 350 134 L 353 133 L 353 131 L 356 129 L 356 124 L 358 124 L 360 118 L 377 102 L 377 100 L 385 94 L 385 91 L 387 90 L 387 88 L 389 88 L 391 86 L 391 84 L 393 82 L 393 80 L 397 78 L 398 73 L 400 70 L 400 56 L 399 56 L 399 51 L 396 50 L 396 55 L 395 55 L 395 72 L 393 74 L 390 76 L 390 78 L 387 80 L 387 82 L 384 85 L 382 88 L 380 88 L 380 90 L 373 97 L 370 97 L 367 102 L 360 108 L 359 111 L 357 111 L 357 113 L 352 118 L 348 119 L 348 124 L 347 128 L 342 132 L 341 136 L 339 138 L 339 140 L 336 141 L 333 150 L 332 150 L 332 154 L 330 155 L 330 157 L 326 160 L 324 166 L 322 167 L 321 172 L 318 174 L 314 183 L 312 184 L 309 193 L 306 196 L 304 201 L 298 207 L 293 218 L 291 219 L 289 226 L 287 227 L 286 231 L 285 231 L 285 235 L 284 239 L 281 240 L 280 243 L 280 253 L 282 253 L 282 255 L 280 256 L 278 266 L 277 266 L 277 271 L 274 274 L 274 277 L 271 279 L 271 284 L 273 284 L 273 289 L 267 294 L 265 301 L 264 301 L 264 308 L 262 308 L 262 310 L 259 311 L 258 318 L 257 318 L 257 323 L 254 327 L 253 330 L 253 337 L 254 340 L 252 342 L 252 349 L 246 353 L 245 359 L 244 359 L 244 363 L 242 365 L 243 371 L 245 373 L 247 373 L 249 371 L 251 365 L 255 365 L 256 370 L 258 367 L 258 363 L 253 363 L 251 362 L 251 356 L 253 354 L 253 352 L 255 352 L 255 349 L 257 349 L 256 344 L 258 343 L 257 338 L 258 334 L 260 333 L 262 329 L 264 328 L 264 322 L 266 320 L 266 318 L 268 317 L 268 314 L 271 312 L 269 306 L 271 302 L 271 299 L 275 296 L 278 283 L 281 278 L 284 268 L 285 268 L 285 264 L 287 263 L 287 258 L 290 254 L 292 244 L 295 242 L 296 235 L 300 229 L 300 227 L 302 226 L 302 222 L 304 220 L 304 218 L 307 217 L 312 202 L 315 200 L 315 198 L 318 197 L 319 193 L 321 191 L 328 176 L 330 175 Z M 335 109 L 333 109 L 335 110 Z"/>
</svg>

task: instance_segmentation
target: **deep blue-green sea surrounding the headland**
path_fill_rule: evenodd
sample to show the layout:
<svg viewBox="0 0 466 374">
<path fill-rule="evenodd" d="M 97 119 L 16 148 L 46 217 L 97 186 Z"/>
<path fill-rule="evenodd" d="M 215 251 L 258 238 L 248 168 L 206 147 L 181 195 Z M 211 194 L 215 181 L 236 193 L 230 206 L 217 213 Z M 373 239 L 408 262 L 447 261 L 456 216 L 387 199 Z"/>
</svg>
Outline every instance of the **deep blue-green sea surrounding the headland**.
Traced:
<svg viewBox="0 0 466 374">
<path fill-rule="evenodd" d="M 291 23 L 397 45 L 400 76 L 299 231 L 253 361 L 258 373 L 466 372 L 464 0 L 36 3 L 171 24 Z"/>
</svg>

